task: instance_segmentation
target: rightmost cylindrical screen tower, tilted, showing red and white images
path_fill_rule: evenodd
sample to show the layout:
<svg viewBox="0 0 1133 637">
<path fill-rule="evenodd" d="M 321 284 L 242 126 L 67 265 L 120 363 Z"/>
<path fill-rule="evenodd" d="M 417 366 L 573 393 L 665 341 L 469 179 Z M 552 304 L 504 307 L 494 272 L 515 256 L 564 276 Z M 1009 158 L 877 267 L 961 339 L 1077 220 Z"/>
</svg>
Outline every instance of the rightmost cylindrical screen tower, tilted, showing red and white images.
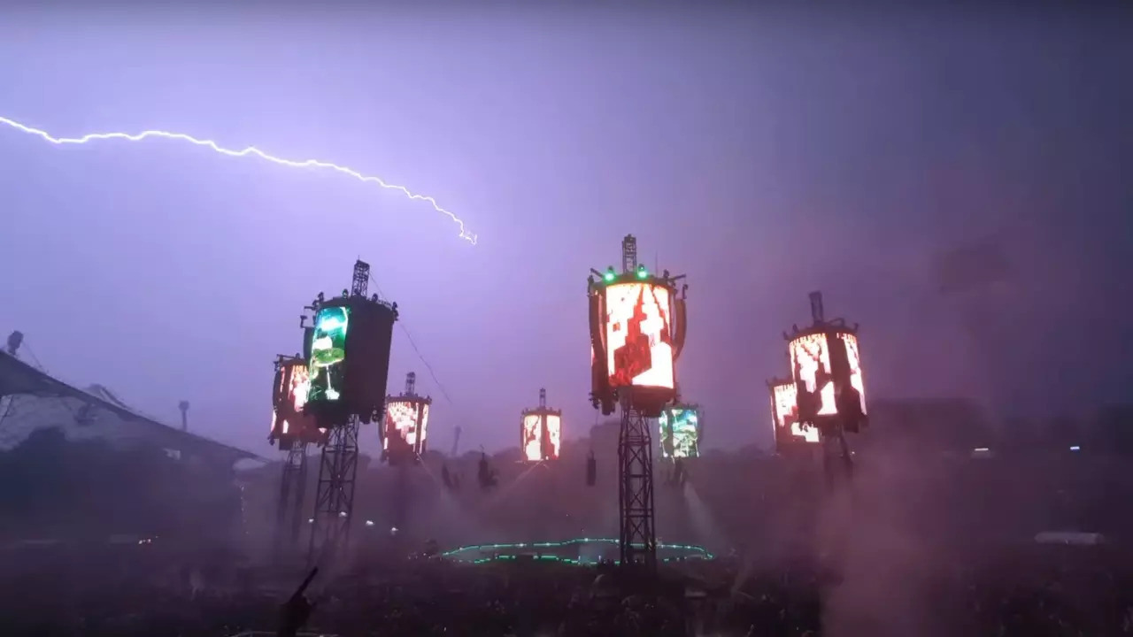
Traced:
<svg viewBox="0 0 1133 637">
<path fill-rule="evenodd" d="M 857 433 L 868 424 L 858 325 L 847 325 L 842 318 L 827 321 L 823 294 L 817 291 L 810 294 L 810 316 L 809 328 L 800 330 L 792 325 L 791 333 L 783 334 L 789 342 L 791 380 L 795 387 L 796 424 L 792 426 L 800 427 L 796 430 L 800 433 L 809 427 L 818 431 L 823 466 L 827 482 L 833 485 L 836 467 L 841 466 L 847 479 L 853 474 L 845 434 Z M 784 405 L 776 407 L 776 411 L 790 407 L 787 393 L 781 390 Z"/>
</svg>

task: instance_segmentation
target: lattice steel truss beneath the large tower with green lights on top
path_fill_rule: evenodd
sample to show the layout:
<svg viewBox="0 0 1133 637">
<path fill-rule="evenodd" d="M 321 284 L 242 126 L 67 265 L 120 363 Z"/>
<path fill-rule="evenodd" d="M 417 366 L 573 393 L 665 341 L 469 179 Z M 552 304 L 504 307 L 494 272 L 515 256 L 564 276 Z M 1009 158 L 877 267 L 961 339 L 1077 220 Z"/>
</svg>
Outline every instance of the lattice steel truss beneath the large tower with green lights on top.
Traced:
<svg viewBox="0 0 1133 637">
<path fill-rule="evenodd" d="M 627 392 L 628 393 L 628 392 Z M 653 439 L 649 422 L 622 398 L 622 424 L 617 436 L 621 512 L 619 553 L 623 566 L 657 568 L 657 535 L 653 511 Z"/>
</svg>

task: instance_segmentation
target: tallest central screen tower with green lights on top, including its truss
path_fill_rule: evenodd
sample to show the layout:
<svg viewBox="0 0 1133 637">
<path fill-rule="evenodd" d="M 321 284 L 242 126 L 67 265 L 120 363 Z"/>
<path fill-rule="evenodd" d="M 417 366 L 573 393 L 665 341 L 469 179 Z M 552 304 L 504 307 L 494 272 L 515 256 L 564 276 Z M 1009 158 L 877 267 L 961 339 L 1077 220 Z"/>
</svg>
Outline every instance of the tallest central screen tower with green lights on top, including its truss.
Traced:
<svg viewBox="0 0 1133 637">
<path fill-rule="evenodd" d="M 617 436 L 621 511 L 619 550 L 623 566 L 656 568 L 653 441 L 649 418 L 661 416 L 676 397 L 675 362 L 684 346 L 684 275 L 659 277 L 637 262 L 637 239 L 622 240 L 622 272 L 613 266 L 590 271 L 587 281 L 590 317 L 591 392 L 594 407 L 613 414 L 621 407 Z"/>
</svg>

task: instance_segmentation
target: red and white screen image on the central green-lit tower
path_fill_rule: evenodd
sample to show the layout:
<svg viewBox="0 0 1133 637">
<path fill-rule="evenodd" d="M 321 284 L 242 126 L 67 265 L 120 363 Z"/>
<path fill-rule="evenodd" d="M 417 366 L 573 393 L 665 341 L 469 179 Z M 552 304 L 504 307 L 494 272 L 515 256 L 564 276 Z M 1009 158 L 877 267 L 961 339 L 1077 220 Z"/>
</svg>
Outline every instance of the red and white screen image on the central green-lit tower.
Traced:
<svg viewBox="0 0 1133 637">
<path fill-rule="evenodd" d="M 649 283 L 606 288 L 610 384 L 673 389 L 668 289 Z"/>
</svg>

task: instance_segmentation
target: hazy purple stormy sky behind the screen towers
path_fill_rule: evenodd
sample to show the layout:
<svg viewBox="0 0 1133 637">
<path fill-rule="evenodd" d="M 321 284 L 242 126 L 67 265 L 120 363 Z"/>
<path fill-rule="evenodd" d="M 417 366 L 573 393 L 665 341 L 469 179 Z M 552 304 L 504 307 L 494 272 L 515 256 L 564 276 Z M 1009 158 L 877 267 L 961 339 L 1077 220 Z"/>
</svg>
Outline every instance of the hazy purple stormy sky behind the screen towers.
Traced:
<svg viewBox="0 0 1133 637">
<path fill-rule="evenodd" d="M 271 363 L 361 256 L 452 397 L 398 330 L 390 389 L 418 372 L 434 447 L 457 424 L 465 449 L 514 444 L 539 387 L 573 438 L 595 422 L 585 280 L 632 232 L 689 274 L 679 375 L 709 447 L 769 442 L 763 383 L 812 289 L 862 323 L 870 397 L 1128 396 L 1130 304 L 1106 299 L 1130 292 L 1107 273 L 1133 244 L 1133 39 L 1104 12 L 212 11 L 17 10 L 0 116 L 350 165 L 479 245 L 340 175 L 0 127 L 0 330 L 76 384 L 171 423 L 188 399 L 195 430 L 266 452 Z M 995 230 L 1008 290 L 936 296 L 932 256 Z"/>
</svg>

